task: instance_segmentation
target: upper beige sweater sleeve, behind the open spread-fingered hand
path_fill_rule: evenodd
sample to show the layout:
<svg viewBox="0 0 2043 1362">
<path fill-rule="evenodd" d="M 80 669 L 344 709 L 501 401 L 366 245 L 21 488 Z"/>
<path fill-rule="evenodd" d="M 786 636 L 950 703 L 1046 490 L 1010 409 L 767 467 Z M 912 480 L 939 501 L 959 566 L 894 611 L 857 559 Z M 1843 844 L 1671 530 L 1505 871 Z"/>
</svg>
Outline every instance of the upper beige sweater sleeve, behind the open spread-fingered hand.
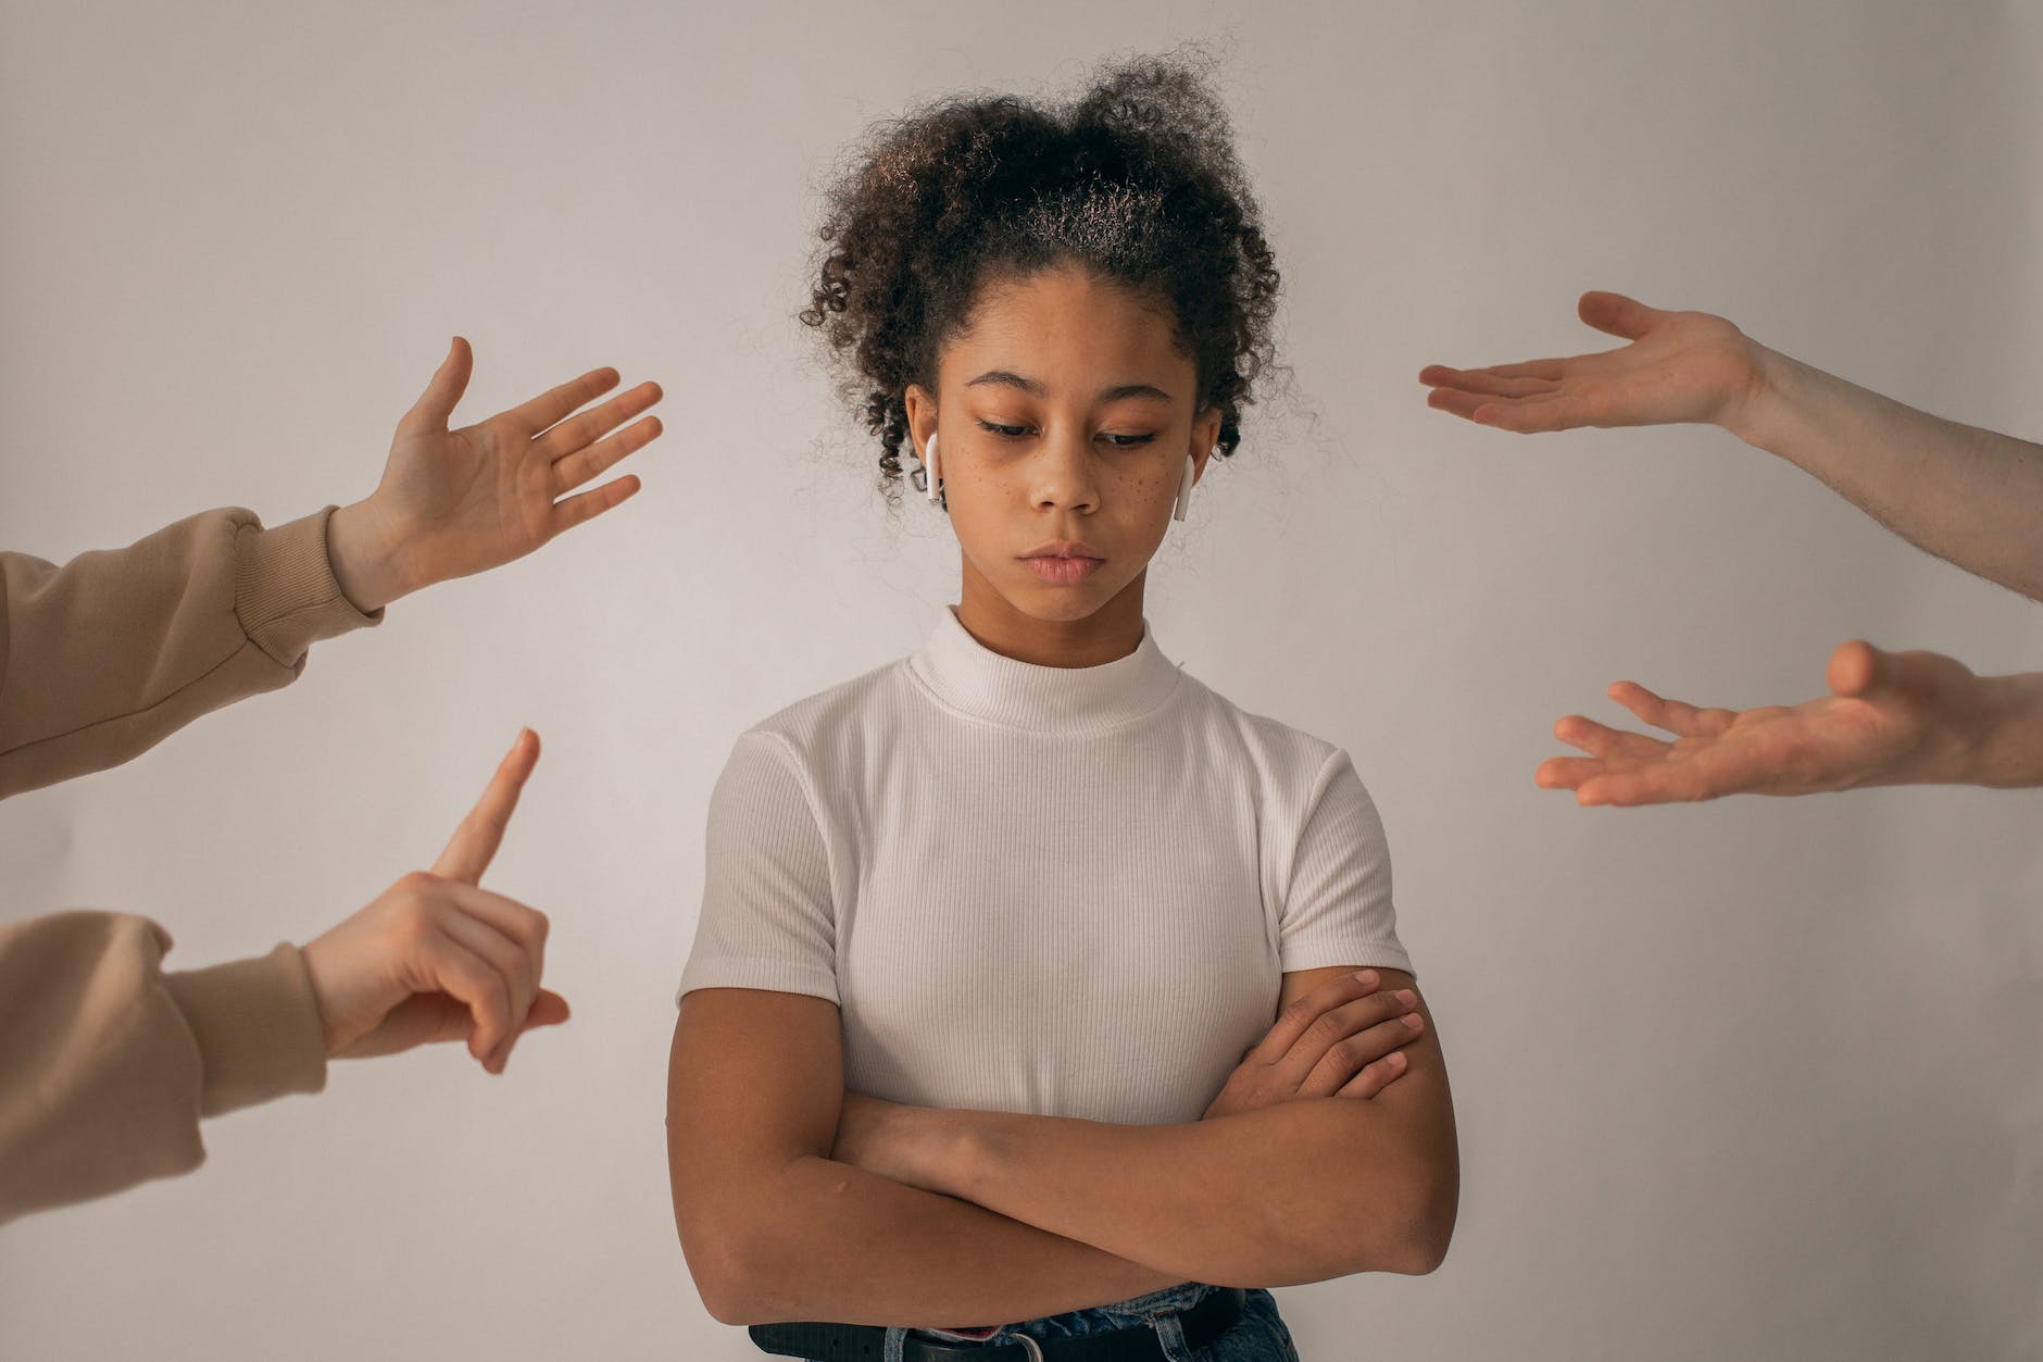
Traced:
<svg viewBox="0 0 2043 1362">
<path fill-rule="evenodd" d="M 0 798 L 137 757 L 382 620 L 333 579 L 331 513 L 204 511 L 61 569 L 0 552 Z"/>
</svg>

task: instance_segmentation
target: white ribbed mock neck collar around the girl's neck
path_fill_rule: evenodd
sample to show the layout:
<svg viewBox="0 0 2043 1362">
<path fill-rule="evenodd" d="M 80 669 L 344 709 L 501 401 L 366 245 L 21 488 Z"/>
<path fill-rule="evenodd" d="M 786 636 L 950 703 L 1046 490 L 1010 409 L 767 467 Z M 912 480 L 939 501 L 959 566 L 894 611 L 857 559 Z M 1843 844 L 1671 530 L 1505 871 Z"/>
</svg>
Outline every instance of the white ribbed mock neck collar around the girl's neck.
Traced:
<svg viewBox="0 0 2043 1362">
<path fill-rule="evenodd" d="M 1146 620 L 1142 642 L 1124 659 L 1101 667 L 1036 667 L 981 644 L 948 607 L 907 667 L 930 693 L 968 718 L 1071 736 L 1132 724 L 1162 706 L 1179 683 Z"/>
</svg>

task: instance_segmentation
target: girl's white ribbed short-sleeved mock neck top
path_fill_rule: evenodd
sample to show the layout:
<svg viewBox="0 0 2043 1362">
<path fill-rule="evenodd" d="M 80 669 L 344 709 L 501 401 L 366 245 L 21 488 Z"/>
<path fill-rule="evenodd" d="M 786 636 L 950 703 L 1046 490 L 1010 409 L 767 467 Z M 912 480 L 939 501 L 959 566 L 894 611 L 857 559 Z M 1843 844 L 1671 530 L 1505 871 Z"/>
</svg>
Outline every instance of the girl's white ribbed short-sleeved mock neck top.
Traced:
<svg viewBox="0 0 2043 1362">
<path fill-rule="evenodd" d="M 1152 632 L 1032 667 L 946 611 L 738 740 L 705 879 L 680 992 L 832 998 L 846 1086 L 919 1106 L 1195 1121 L 1283 971 L 1412 967 L 1348 757 Z"/>
</svg>

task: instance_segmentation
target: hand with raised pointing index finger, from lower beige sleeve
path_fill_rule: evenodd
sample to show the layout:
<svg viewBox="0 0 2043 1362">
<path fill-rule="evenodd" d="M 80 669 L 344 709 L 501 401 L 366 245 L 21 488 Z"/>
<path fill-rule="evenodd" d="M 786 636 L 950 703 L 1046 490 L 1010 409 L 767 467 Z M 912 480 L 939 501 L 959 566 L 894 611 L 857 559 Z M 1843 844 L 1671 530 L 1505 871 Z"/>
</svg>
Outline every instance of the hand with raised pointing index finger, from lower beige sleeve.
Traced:
<svg viewBox="0 0 2043 1362">
<path fill-rule="evenodd" d="M 484 1070 L 503 1074 L 519 1035 L 568 1020 L 568 1002 L 539 988 L 545 914 L 478 886 L 537 761 L 539 738 L 525 730 L 431 871 L 405 875 L 306 943 L 329 1055 L 468 1041 Z"/>
</svg>

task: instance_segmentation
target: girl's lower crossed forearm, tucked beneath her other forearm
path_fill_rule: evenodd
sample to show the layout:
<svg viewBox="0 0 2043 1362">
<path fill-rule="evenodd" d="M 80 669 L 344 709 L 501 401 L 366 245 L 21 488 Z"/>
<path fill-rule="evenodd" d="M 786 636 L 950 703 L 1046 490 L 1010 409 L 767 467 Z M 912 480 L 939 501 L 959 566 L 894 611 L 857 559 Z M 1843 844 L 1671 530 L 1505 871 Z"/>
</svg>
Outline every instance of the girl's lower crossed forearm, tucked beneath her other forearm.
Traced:
<svg viewBox="0 0 2043 1362">
<path fill-rule="evenodd" d="M 768 1186 L 748 1188 L 740 1217 L 750 1225 L 725 1280 L 691 1254 L 705 1301 L 729 1323 L 970 1327 L 1185 1280 L 823 1157 L 795 1160 Z"/>
</svg>

